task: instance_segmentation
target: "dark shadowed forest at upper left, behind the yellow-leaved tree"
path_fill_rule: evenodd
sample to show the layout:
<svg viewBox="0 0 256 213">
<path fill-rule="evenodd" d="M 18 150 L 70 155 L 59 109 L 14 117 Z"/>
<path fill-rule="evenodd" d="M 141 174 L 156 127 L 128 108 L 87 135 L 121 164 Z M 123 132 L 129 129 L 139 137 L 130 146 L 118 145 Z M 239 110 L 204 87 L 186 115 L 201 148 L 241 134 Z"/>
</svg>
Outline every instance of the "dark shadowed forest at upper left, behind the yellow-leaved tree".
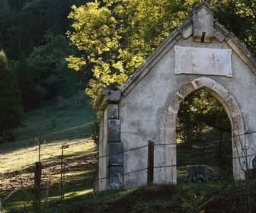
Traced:
<svg viewBox="0 0 256 213">
<path fill-rule="evenodd" d="M 87 1 L 0 2 L 0 48 L 14 68 L 24 110 L 31 110 L 57 96 L 75 94 L 78 73 L 65 58 L 74 52 L 66 38 L 71 5 Z M 84 86 L 85 87 L 85 86 Z"/>
</svg>

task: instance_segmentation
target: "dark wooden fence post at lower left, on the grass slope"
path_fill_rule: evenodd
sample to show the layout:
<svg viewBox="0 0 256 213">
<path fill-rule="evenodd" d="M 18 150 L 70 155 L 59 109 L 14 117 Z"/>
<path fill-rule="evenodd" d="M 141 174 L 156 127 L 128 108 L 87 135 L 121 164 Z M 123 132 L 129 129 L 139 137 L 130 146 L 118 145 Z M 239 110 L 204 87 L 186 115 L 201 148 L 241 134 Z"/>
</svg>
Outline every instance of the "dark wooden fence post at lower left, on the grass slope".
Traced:
<svg viewBox="0 0 256 213">
<path fill-rule="evenodd" d="M 35 176 L 34 176 L 34 210 L 35 213 L 40 213 L 40 186 L 41 186 L 42 163 L 36 162 Z"/>
</svg>

